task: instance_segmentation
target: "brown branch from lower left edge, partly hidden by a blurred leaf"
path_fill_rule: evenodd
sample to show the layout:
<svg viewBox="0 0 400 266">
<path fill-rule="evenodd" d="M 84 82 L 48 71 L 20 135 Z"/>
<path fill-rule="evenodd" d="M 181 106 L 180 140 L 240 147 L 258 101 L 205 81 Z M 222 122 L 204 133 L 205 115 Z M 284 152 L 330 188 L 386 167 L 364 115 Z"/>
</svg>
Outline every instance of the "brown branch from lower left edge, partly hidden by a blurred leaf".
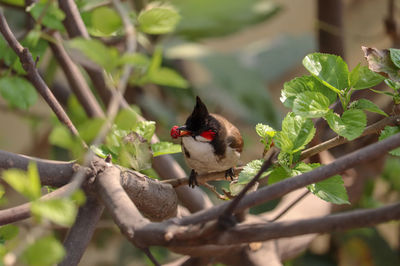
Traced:
<svg viewBox="0 0 400 266">
<path fill-rule="evenodd" d="M 71 184 L 65 185 L 49 194 L 44 195 L 41 199 L 47 200 L 52 198 L 63 197 L 70 189 Z M 31 217 L 31 204 L 25 203 L 17 207 L 12 207 L 5 210 L 0 210 L 0 226 L 14 223 Z"/>
</svg>

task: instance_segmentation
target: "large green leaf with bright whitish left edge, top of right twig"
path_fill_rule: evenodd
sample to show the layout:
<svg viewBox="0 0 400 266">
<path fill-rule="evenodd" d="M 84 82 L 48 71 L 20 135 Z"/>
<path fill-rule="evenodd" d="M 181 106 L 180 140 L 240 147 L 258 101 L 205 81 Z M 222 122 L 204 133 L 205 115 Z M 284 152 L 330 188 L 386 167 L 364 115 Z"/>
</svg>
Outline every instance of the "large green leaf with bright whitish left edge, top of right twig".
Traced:
<svg viewBox="0 0 400 266">
<path fill-rule="evenodd" d="M 340 56 L 313 53 L 303 59 L 303 65 L 313 76 L 336 93 L 349 88 L 349 69 Z"/>
</svg>

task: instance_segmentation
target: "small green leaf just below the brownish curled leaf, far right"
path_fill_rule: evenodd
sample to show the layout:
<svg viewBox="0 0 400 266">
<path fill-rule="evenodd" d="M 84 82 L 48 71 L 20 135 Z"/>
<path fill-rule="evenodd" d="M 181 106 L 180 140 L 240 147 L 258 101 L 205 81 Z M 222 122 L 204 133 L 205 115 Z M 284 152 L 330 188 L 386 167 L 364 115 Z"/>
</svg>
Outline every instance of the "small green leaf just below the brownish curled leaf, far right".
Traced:
<svg viewBox="0 0 400 266">
<path fill-rule="evenodd" d="M 368 67 L 356 67 L 350 73 L 350 87 L 354 90 L 363 90 L 381 83 L 385 77 L 369 70 Z"/>
</svg>

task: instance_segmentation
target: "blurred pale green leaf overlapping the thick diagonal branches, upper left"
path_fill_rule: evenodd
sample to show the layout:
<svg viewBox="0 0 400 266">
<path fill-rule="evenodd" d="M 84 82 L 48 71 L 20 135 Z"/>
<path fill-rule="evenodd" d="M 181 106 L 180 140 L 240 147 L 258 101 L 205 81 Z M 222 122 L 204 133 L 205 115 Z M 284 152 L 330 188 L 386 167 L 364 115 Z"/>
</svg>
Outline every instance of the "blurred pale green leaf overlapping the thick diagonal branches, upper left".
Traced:
<svg viewBox="0 0 400 266">
<path fill-rule="evenodd" d="M 114 47 L 107 47 L 99 40 L 74 38 L 68 41 L 68 46 L 82 52 L 88 59 L 110 72 L 118 64 L 119 53 Z"/>
</svg>

